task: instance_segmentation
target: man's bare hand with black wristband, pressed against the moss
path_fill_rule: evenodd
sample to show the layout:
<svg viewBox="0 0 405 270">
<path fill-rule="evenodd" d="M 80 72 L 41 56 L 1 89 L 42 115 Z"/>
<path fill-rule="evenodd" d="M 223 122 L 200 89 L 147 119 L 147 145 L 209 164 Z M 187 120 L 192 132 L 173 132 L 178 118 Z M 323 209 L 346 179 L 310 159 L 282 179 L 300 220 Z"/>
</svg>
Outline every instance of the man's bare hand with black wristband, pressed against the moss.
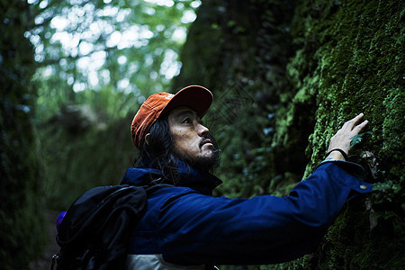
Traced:
<svg viewBox="0 0 405 270">
<path fill-rule="evenodd" d="M 363 115 L 363 113 L 360 113 L 352 120 L 345 122 L 343 127 L 330 139 L 328 152 L 332 149 L 341 149 L 348 154 L 351 139 L 358 135 L 368 122 L 365 120 L 359 123 Z M 345 160 L 343 154 L 338 150 L 330 152 L 327 158 Z"/>
</svg>

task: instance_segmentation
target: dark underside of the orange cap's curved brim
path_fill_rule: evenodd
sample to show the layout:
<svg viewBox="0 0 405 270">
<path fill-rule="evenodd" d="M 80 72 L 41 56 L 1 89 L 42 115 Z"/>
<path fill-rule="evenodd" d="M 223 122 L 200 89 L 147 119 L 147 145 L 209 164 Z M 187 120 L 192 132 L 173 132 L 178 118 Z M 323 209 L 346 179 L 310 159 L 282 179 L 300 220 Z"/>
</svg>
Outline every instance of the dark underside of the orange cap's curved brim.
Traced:
<svg viewBox="0 0 405 270">
<path fill-rule="evenodd" d="M 198 116 L 202 117 L 210 108 L 212 98 L 211 91 L 205 87 L 200 85 L 186 86 L 172 97 L 162 112 L 160 112 L 159 117 L 180 106 L 187 106 L 197 112 Z"/>
</svg>

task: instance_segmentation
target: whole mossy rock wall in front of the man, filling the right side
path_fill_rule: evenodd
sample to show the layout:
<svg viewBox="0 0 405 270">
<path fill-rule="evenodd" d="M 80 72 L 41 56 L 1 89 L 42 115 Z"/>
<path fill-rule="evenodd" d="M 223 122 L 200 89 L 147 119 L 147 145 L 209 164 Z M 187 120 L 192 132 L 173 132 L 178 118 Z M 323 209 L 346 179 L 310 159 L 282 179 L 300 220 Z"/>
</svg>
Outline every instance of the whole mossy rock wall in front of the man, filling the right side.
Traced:
<svg viewBox="0 0 405 270">
<path fill-rule="evenodd" d="M 394 0 L 202 3 L 174 88 L 214 93 L 218 194 L 284 195 L 345 121 L 369 121 L 350 158 L 374 193 L 348 202 L 311 256 L 268 268 L 405 266 L 404 14 Z"/>
</svg>

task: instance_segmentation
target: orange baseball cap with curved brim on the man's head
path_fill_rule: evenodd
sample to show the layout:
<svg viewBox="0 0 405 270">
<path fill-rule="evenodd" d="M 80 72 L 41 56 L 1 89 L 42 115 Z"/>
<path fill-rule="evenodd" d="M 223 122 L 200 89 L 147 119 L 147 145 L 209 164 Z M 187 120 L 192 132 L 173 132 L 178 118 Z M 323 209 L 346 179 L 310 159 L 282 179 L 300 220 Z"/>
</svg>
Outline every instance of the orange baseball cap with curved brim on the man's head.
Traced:
<svg viewBox="0 0 405 270">
<path fill-rule="evenodd" d="M 157 118 L 175 109 L 175 107 L 190 107 L 197 112 L 198 116 L 202 117 L 210 108 L 212 98 L 211 91 L 200 85 L 184 87 L 176 94 L 162 92 L 150 95 L 142 103 L 130 125 L 130 135 L 133 143 L 139 148 L 141 140 L 148 134 Z"/>
</svg>

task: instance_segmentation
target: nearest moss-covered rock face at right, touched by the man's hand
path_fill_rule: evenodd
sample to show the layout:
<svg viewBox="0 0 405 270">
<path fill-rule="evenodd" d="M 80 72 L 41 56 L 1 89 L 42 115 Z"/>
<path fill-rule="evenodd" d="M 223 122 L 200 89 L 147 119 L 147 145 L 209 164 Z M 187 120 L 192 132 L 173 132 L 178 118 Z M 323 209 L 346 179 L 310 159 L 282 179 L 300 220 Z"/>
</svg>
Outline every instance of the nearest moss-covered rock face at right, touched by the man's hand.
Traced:
<svg viewBox="0 0 405 270">
<path fill-rule="evenodd" d="M 297 14 L 293 22 L 305 27 L 296 27 L 303 33 L 296 39 L 303 39 L 304 46 L 287 67 L 298 90 L 292 106 L 316 97 L 305 175 L 324 156 L 329 138 L 342 123 L 364 112 L 370 134 L 352 159 L 365 166 L 375 190 L 347 204 L 310 266 L 396 269 L 405 265 L 401 256 L 405 236 L 402 3 L 316 1 L 297 6 L 310 15 Z M 308 63 L 314 67 L 311 73 L 305 72 Z"/>
</svg>

